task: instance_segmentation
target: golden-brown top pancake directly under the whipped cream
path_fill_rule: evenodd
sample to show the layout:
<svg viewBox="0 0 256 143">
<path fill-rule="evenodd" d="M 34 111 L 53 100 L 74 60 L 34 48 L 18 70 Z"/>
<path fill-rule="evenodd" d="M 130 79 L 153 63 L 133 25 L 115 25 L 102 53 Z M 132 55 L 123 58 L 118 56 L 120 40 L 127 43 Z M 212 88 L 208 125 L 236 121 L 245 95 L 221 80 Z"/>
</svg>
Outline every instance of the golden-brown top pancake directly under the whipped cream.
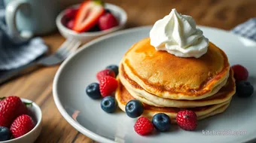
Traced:
<svg viewBox="0 0 256 143">
<path fill-rule="evenodd" d="M 181 58 L 155 50 L 150 38 L 134 44 L 121 63 L 126 74 L 144 90 L 166 99 L 212 96 L 212 90 L 227 81 L 230 69 L 226 54 L 212 43 L 198 59 Z"/>
</svg>

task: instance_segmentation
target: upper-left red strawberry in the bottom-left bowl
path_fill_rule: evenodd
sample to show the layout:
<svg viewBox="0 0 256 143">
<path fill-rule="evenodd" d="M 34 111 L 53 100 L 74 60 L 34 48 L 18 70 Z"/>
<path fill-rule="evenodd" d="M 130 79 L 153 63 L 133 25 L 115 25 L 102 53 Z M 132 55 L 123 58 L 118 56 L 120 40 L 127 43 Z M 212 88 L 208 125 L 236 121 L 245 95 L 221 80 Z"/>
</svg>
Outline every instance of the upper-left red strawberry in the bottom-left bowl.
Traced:
<svg viewBox="0 0 256 143">
<path fill-rule="evenodd" d="M 0 101 L 0 126 L 10 127 L 21 114 L 28 114 L 28 109 L 19 97 L 9 96 Z"/>
</svg>

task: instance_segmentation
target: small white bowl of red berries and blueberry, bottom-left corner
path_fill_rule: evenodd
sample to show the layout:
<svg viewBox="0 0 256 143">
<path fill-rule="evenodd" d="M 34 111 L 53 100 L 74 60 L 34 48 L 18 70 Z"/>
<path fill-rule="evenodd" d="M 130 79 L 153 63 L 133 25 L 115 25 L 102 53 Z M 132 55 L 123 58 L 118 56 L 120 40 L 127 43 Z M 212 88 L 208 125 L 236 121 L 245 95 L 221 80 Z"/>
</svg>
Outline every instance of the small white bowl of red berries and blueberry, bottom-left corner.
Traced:
<svg viewBox="0 0 256 143">
<path fill-rule="evenodd" d="M 35 102 L 8 96 L 0 100 L 0 142 L 34 142 L 41 132 L 41 109 Z"/>
</svg>

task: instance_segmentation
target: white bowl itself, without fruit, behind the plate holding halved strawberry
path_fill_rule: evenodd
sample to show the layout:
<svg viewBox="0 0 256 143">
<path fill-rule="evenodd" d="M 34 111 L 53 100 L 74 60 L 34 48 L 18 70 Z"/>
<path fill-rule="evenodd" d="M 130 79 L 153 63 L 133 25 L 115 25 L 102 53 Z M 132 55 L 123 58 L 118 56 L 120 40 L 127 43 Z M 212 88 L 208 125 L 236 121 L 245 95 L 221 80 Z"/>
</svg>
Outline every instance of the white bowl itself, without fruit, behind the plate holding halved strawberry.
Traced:
<svg viewBox="0 0 256 143">
<path fill-rule="evenodd" d="M 73 5 L 70 8 L 78 8 L 78 6 L 79 5 Z M 119 21 L 118 26 L 115 26 L 111 29 L 100 31 L 100 32 L 82 32 L 82 33 L 78 33 L 78 32 L 75 32 L 71 29 L 68 29 L 66 26 L 64 26 L 62 24 L 62 18 L 64 16 L 66 10 L 62 11 L 58 15 L 58 17 L 56 18 L 56 26 L 58 27 L 59 32 L 63 37 L 65 37 L 65 38 L 74 38 L 78 41 L 81 41 L 82 43 L 90 41 L 90 40 L 92 40 L 94 38 L 97 38 L 99 36 L 106 35 L 108 33 L 115 32 L 117 30 L 123 29 L 123 27 L 125 26 L 126 21 L 127 21 L 126 12 L 118 6 L 111 5 L 111 4 L 108 4 L 108 3 L 105 4 L 105 8 L 110 10 L 111 13 L 114 14 L 114 17 L 117 18 L 117 20 Z"/>
</svg>

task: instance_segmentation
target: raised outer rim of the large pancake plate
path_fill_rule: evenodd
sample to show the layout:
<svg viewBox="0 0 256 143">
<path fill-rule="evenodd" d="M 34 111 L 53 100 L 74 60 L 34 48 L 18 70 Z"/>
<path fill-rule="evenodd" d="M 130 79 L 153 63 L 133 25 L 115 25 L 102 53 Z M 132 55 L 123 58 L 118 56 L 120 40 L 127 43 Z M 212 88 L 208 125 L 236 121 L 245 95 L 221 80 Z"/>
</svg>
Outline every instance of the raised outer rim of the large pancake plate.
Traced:
<svg viewBox="0 0 256 143">
<path fill-rule="evenodd" d="M 120 30 L 118 32 L 113 32 L 111 34 L 104 35 L 100 38 L 96 38 L 93 41 L 90 41 L 87 44 L 84 44 L 83 46 L 81 46 L 75 53 L 73 53 L 71 56 L 69 56 L 59 66 L 59 69 L 56 71 L 56 75 L 54 76 L 54 79 L 53 79 L 53 100 L 55 102 L 56 108 L 59 110 L 59 113 L 62 115 L 62 117 L 71 126 L 73 126 L 75 129 L 77 129 L 78 132 L 81 132 L 82 134 L 87 135 L 87 137 L 93 139 L 94 141 L 99 141 L 99 142 L 104 142 L 104 143 L 114 143 L 114 142 L 116 142 L 116 141 L 113 141 L 109 138 L 105 138 L 102 135 L 98 135 L 95 132 L 90 131 L 89 129 L 87 129 L 84 126 L 80 125 L 79 123 L 75 122 L 75 120 L 73 120 L 72 117 L 70 117 L 69 114 L 66 112 L 65 108 L 62 106 L 62 104 L 59 100 L 59 95 L 58 95 L 58 92 L 57 92 L 57 89 L 56 89 L 57 83 L 59 81 L 59 76 L 61 75 L 61 73 L 63 71 L 63 68 L 65 68 L 65 66 L 69 63 L 69 61 L 71 61 L 76 55 L 78 55 L 78 53 L 81 53 L 84 49 L 86 49 L 87 47 L 90 47 L 93 44 L 96 44 L 99 41 L 102 41 L 102 40 L 105 40 L 105 39 L 108 39 L 108 38 L 111 38 L 111 37 L 114 37 L 114 36 L 117 36 L 117 35 L 122 35 L 122 34 L 127 34 L 127 33 L 130 33 L 130 32 L 134 32 L 136 30 L 149 29 L 151 27 L 152 26 L 139 26 L 139 27 L 135 27 L 135 28 Z M 204 29 L 216 29 L 216 30 L 221 31 L 221 32 L 226 32 L 228 34 L 235 35 L 236 37 L 245 38 L 245 37 L 242 37 L 240 35 L 236 35 L 233 32 L 230 32 L 230 31 L 227 31 L 227 30 L 224 30 L 224 29 L 218 29 L 218 28 L 209 27 L 209 26 L 197 26 L 197 27 L 204 28 Z M 248 41 L 251 41 L 254 44 L 256 44 L 255 41 L 252 41 L 249 38 L 245 38 L 245 39 L 247 39 Z M 256 135 L 249 135 L 249 138 L 247 138 L 245 140 L 245 142 L 252 141 L 254 139 L 256 139 Z"/>
</svg>

